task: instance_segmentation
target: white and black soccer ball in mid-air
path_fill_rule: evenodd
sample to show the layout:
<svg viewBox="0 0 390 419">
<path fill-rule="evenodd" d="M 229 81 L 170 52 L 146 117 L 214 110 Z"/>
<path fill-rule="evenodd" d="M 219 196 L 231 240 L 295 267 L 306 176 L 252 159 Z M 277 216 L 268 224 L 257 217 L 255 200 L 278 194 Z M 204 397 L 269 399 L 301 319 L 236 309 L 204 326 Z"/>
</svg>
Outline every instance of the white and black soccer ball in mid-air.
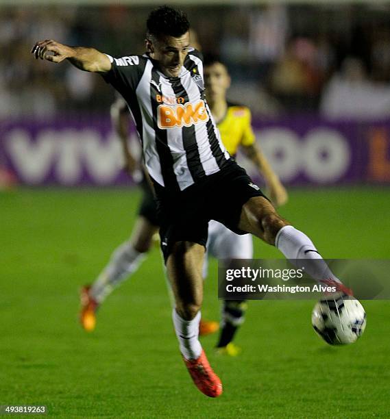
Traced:
<svg viewBox="0 0 390 419">
<path fill-rule="evenodd" d="M 330 345 L 356 342 L 366 325 L 363 305 L 353 297 L 342 295 L 336 299 L 322 299 L 311 315 L 314 330 Z"/>
</svg>

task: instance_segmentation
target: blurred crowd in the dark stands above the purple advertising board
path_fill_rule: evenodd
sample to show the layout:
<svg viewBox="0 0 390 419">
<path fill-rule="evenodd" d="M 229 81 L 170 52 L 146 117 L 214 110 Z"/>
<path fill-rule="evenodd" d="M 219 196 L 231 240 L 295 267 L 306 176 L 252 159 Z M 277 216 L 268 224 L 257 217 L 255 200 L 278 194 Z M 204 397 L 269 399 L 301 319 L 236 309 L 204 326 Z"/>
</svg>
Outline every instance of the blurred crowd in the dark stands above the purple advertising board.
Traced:
<svg viewBox="0 0 390 419">
<path fill-rule="evenodd" d="M 37 62 L 32 60 L 29 50 L 38 38 L 56 38 L 70 45 L 97 47 L 114 56 L 143 53 L 145 18 L 150 8 L 114 3 L 1 7 L 0 118 L 24 115 L 48 118 L 75 110 L 107 112 L 112 90 L 101 77 L 74 71 L 67 65 Z M 365 116 L 387 114 L 388 86 L 384 84 L 390 82 L 387 5 L 380 9 L 341 3 L 202 8 L 193 4 L 183 8 L 197 29 L 202 51 L 221 55 L 228 64 L 234 80 L 232 99 L 251 105 L 255 114 L 274 114 L 281 109 L 315 112 L 321 96 L 321 109 L 326 114 L 337 114 L 329 111 L 327 105 L 330 96 L 337 96 L 337 87 L 334 88 L 337 83 L 360 85 L 354 92 L 356 96 L 358 92 L 364 96 L 365 92 L 375 102 L 371 105 L 367 97 L 363 98 L 361 106 L 369 106 L 367 112 L 361 110 Z M 334 68 L 348 55 L 363 58 L 369 74 L 359 81 L 342 74 L 332 77 Z M 329 79 L 332 82 L 323 92 Z M 336 92 L 330 95 L 332 88 Z M 350 90 L 353 98 L 353 89 Z M 347 103 L 341 107 L 347 112 L 351 106 Z M 358 107 L 356 100 L 354 106 Z"/>
</svg>

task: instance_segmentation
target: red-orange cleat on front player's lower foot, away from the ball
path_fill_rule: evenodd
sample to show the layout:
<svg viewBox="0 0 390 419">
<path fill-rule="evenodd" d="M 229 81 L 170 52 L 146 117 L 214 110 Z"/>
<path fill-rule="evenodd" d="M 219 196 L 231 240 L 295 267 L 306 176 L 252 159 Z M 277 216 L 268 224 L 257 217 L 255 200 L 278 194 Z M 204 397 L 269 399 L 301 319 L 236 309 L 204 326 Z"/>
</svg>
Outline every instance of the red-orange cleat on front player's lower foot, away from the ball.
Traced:
<svg viewBox="0 0 390 419">
<path fill-rule="evenodd" d="M 203 350 L 197 359 L 183 359 L 193 382 L 203 394 L 208 397 L 221 396 L 221 380 L 212 370 Z"/>
</svg>

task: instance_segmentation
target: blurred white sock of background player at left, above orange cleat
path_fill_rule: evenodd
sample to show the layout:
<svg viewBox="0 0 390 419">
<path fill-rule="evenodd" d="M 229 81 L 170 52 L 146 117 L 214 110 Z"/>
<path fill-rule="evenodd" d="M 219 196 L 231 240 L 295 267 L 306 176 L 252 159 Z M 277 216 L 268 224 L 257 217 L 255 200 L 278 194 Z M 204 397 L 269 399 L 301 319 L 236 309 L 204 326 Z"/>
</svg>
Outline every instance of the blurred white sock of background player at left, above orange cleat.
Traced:
<svg viewBox="0 0 390 419">
<path fill-rule="evenodd" d="M 135 272 L 145 258 L 130 242 L 125 242 L 112 253 L 110 262 L 90 288 L 90 295 L 98 303 L 114 290 L 126 277 Z"/>
</svg>

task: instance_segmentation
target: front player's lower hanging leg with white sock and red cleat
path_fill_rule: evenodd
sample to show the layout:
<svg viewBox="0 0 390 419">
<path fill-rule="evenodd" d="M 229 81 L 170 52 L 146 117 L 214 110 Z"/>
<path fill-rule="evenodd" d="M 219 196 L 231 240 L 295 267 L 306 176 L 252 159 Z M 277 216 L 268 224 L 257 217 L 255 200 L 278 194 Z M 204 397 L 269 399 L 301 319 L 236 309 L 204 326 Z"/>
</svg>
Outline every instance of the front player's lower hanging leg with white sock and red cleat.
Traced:
<svg viewBox="0 0 390 419">
<path fill-rule="evenodd" d="M 201 392 L 217 397 L 222 392 L 221 381 L 210 367 L 199 342 L 203 259 L 204 246 L 175 242 L 167 258 L 167 275 L 175 296 L 173 325 L 188 372 Z"/>
</svg>

